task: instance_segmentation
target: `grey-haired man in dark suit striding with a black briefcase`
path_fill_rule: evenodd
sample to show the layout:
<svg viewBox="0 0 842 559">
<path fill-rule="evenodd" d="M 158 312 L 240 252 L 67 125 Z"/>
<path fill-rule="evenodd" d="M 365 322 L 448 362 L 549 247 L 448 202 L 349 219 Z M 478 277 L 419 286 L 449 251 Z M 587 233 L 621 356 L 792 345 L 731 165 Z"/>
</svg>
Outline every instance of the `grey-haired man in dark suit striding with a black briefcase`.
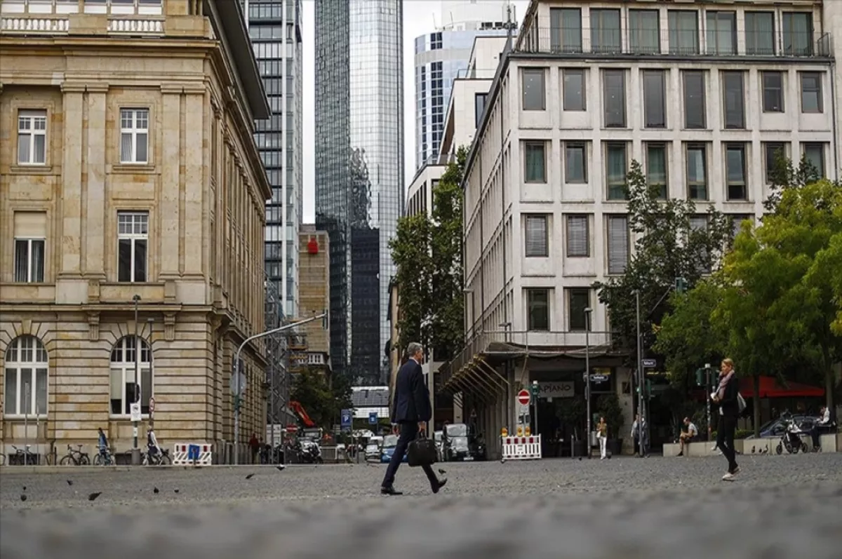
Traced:
<svg viewBox="0 0 842 559">
<path fill-rule="evenodd" d="M 427 422 L 433 416 L 429 405 L 429 390 L 424 382 L 421 363 L 424 360 L 424 348 L 420 343 L 410 343 L 407 348 L 409 359 L 401 365 L 395 377 L 395 394 L 392 401 L 392 425 L 400 429 L 395 454 L 386 468 L 380 492 L 384 495 L 401 495 L 395 491 L 394 482 L 397 466 L 401 465 L 409 443 L 418 437 L 418 431 L 427 430 Z M 434 493 L 445 487 L 447 480 L 439 481 L 430 466 L 422 466 L 429 479 L 429 487 Z"/>
</svg>

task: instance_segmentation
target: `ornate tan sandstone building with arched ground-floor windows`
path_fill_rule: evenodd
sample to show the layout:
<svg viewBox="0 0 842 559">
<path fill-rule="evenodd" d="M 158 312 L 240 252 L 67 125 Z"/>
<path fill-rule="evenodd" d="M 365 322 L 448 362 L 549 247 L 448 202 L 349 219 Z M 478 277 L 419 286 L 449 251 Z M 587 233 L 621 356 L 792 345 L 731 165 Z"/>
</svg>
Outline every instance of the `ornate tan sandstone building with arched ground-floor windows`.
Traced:
<svg viewBox="0 0 842 559">
<path fill-rule="evenodd" d="M 125 452 L 139 401 L 141 447 L 154 423 L 163 447 L 224 460 L 233 354 L 263 329 L 271 195 L 239 3 L 0 11 L 0 448 L 43 461 L 93 451 L 102 428 Z M 242 360 L 244 447 L 266 422 L 262 345 Z"/>
</svg>

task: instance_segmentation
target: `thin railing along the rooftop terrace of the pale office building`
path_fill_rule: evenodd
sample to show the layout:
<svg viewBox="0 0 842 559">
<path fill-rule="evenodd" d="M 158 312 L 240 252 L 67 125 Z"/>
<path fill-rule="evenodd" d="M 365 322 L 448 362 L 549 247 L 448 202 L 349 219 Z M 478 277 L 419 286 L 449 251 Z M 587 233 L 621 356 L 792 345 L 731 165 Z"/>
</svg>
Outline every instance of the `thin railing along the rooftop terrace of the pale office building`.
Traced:
<svg viewBox="0 0 842 559">
<path fill-rule="evenodd" d="M 516 52 L 588 56 L 759 56 L 829 58 L 833 45 L 829 33 L 780 30 L 739 34 L 676 32 L 641 29 L 633 33 L 602 31 L 594 40 L 585 29 L 533 28 L 521 35 Z"/>
</svg>

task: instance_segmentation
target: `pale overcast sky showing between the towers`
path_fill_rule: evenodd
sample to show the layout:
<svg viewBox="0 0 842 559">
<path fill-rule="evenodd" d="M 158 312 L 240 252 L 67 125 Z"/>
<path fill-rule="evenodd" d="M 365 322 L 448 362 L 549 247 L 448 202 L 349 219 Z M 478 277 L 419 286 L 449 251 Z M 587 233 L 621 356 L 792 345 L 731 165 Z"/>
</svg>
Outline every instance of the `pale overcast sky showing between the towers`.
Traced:
<svg viewBox="0 0 842 559">
<path fill-rule="evenodd" d="M 418 35 L 432 33 L 441 24 L 441 6 L 447 3 L 461 3 L 465 0 L 403 0 L 403 138 L 406 161 L 405 180 L 410 181 L 415 173 L 415 70 L 414 40 Z M 514 0 L 517 19 L 523 16 L 528 0 Z M 304 211 L 305 223 L 316 221 L 315 210 L 315 155 L 314 130 L 316 129 L 316 75 L 313 45 L 315 44 L 316 0 L 301 2 L 301 33 L 303 36 L 304 60 Z M 520 23 L 520 22 L 519 22 Z M 404 184 L 404 189 L 408 184 Z"/>
</svg>

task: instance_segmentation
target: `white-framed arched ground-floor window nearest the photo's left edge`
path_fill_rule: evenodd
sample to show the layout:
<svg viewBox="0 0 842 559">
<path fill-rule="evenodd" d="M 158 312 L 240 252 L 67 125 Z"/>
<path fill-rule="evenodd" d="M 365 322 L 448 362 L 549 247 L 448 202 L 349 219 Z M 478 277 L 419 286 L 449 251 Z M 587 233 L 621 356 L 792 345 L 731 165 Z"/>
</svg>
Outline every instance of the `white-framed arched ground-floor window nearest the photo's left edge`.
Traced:
<svg viewBox="0 0 842 559">
<path fill-rule="evenodd" d="M 14 338 L 6 349 L 3 414 L 47 414 L 47 350 L 35 336 Z"/>
</svg>

